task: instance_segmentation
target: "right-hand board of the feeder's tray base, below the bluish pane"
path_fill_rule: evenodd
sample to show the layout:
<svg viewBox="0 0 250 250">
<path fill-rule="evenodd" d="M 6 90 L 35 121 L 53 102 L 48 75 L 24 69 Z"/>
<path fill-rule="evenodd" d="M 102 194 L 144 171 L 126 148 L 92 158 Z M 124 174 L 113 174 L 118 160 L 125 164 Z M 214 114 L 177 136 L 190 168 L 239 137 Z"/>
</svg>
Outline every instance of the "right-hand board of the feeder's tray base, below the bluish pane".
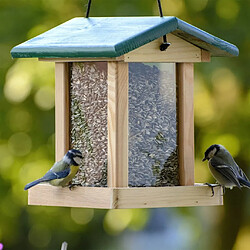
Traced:
<svg viewBox="0 0 250 250">
<path fill-rule="evenodd" d="M 156 208 L 223 205 L 221 187 L 175 186 L 116 189 L 113 208 Z"/>
</svg>

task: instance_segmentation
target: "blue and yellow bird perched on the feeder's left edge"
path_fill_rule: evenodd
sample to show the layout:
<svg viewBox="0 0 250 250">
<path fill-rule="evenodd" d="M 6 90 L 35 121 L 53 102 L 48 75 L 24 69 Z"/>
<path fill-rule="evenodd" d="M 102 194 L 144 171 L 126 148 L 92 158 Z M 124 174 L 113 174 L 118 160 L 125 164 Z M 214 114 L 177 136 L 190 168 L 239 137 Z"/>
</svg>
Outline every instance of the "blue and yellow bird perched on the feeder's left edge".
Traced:
<svg viewBox="0 0 250 250">
<path fill-rule="evenodd" d="M 77 149 L 70 149 L 62 160 L 54 163 L 51 169 L 40 179 L 28 183 L 24 190 L 27 190 L 41 182 L 48 182 L 53 186 L 66 187 L 79 170 L 83 159 L 82 153 Z"/>
</svg>

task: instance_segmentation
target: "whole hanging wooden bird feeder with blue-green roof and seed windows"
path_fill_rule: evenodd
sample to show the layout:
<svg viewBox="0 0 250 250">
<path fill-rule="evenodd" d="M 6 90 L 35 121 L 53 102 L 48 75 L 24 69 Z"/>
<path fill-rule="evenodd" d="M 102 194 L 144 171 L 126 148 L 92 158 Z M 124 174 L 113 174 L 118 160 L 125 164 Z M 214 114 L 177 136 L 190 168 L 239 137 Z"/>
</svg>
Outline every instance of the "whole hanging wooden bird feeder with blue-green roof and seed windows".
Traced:
<svg viewBox="0 0 250 250">
<path fill-rule="evenodd" d="M 70 148 L 84 156 L 80 187 L 39 184 L 30 205 L 223 204 L 220 187 L 211 196 L 194 181 L 193 64 L 237 47 L 176 17 L 100 17 L 74 18 L 11 55 L 55 62 L 56 160 Z"/>
</svg>

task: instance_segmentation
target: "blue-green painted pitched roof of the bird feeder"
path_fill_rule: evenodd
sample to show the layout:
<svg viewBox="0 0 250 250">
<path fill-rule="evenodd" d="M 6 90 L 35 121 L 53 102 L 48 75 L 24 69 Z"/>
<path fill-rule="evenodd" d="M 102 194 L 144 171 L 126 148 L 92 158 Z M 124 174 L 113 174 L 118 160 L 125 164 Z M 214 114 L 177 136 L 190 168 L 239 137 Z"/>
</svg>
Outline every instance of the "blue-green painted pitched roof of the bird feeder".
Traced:
<svg viewBox="0 0 250 250">
<path fill-rule="evenodd" d="M 11 50 L 13 58 L 117 57 L 172 33 L 211 53 L 238 56 L 233 44 L 176 17 L 73 18 Z"/>
</svg>

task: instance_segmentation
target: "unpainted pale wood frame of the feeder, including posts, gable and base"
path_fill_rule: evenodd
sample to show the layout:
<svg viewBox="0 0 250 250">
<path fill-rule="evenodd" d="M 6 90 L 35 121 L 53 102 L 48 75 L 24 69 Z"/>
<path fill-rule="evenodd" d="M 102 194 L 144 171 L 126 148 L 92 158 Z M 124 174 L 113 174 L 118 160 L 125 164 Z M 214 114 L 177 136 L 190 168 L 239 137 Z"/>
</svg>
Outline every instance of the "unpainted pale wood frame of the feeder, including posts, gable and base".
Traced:
<svg viewBox="0 0 250 250">
<path fill-rule="evenodd" d="M 56 160 L 69 149 L 69 62 L 107 61 L 108 81 L 108 187 L 68 188 L 39 184 L 29 190 L 30 205 L 150 208 L 223 205 L 221 187 L 194 184 L 193 62 L 209 61 L 206 52 L 174 35 L 172 47 L 161 52 L 161 39 L 117 58 L 62 58 L 55 61 Z M 180 52 L 181 51 L 181 52 Z M 175 62 L 178 93 L 178 157 L 180 185 L 128 187 L 128 62 Z"/>
</svg>

